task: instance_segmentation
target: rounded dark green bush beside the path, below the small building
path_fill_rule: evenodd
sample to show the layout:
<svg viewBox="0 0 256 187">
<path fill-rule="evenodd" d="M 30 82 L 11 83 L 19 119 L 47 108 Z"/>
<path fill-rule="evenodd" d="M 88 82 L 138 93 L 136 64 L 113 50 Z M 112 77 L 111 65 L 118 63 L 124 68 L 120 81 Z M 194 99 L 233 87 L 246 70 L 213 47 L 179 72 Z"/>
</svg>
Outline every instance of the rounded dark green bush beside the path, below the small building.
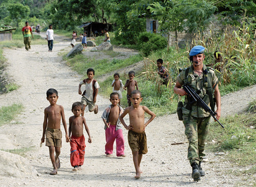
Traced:
<svg viewBox="0 0 256 187">
<path fill-rule="evenodd" d="M 167 40 L 159 34 L 142 32 L 138 37 L 138 44 L 140 51 L 145 56 L 149 56 L 152 51 L 166 48 Z"/>
</svg>

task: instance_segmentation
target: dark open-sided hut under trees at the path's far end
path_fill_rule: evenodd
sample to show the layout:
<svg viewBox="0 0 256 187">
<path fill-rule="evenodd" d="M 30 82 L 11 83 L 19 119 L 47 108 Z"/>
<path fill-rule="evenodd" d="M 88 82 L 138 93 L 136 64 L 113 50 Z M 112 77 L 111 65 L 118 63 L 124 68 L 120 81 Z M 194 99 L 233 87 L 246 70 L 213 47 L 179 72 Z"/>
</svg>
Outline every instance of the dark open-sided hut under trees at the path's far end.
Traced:
<svg viewBox="0 0 256 187">
<path fill-rule="evenodd" d="M 86 22 L 80 25 L 79 28 L 83 27 L 83 32 L 87 33 L 87 37 L 97 37 L 104 35 L 104 28 L 108 28 L 109 31 L 112 29 L 111 23 L 98 23 L 98 22 Z"/>
</svg>

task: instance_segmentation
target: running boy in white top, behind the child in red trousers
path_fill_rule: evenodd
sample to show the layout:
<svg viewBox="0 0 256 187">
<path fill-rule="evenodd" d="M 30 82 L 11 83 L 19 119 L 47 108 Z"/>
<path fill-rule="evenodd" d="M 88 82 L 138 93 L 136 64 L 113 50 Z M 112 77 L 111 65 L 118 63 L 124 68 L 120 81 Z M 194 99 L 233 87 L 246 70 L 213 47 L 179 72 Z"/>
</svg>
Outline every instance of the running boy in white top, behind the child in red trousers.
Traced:
<svg viewBox="0 0 256 187">
<path fill-rule="evenodd" d="M 94 69 L 89 68 L 87 69 L 87 76 L 85 80 L 81 81 L 79 83 L 79 88 L 78 88 L 78 93 L 81 95 L 81 87 L 82 85 L 85 85 L 85 91 L 82 94 L 82 104 L 83 104 L 83 109 L 82 109 L 82 116 L 85 114 L 85 107 L 88 105 L 89 111 L 92 112 L 94 111 L 94 114 L 98 113 L 98 106 L 95 105 L 96 102 L 96 97 L 99 92 L 99 83 L 97 80 L 94 79 Z"/>
</svg>

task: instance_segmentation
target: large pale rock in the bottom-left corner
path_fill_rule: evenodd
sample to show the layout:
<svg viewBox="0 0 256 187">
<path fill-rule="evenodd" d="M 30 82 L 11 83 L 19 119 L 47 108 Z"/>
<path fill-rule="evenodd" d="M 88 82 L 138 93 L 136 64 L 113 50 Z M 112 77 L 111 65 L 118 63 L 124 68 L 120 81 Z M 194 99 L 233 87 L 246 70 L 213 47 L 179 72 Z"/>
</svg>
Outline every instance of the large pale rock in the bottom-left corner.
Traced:
<svg viewBox="0 0 256 187">
<path fill-rule="evenodd" d="M 24 178 L 38 175 L 28 160 L 20 155 L 10 154 L 9 152 L 0 150 L 0 160 L 0 176 Z"/>
</svg>

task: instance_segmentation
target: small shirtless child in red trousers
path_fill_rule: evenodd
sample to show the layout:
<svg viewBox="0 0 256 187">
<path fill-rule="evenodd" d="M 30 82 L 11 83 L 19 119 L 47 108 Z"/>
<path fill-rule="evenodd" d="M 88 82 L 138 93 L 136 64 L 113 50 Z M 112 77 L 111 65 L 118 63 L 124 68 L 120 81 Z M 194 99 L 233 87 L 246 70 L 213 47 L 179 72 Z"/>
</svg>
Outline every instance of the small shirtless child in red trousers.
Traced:
<svg viewBox="0 0 256 187">
<path fill-rule="evenodd" d="M 74 116 L 70 117 L 70 127 L 68 128 L 68 136 L 70 137 L 70 162 L 74 167 L 73 171 L 81 169 L 85 157 L 85 136 L 83 136 L 83 124 L 89 136 L 88 142 L 92 143 L 90 131 L 85 121 L 85 117 L 80 116 L 82 113 L 83 104 L 81 102 L 74 102 L 72 105 L 72 112 Z M 72 136 L 70 136 L 72 133 Z"/>
</svg>

